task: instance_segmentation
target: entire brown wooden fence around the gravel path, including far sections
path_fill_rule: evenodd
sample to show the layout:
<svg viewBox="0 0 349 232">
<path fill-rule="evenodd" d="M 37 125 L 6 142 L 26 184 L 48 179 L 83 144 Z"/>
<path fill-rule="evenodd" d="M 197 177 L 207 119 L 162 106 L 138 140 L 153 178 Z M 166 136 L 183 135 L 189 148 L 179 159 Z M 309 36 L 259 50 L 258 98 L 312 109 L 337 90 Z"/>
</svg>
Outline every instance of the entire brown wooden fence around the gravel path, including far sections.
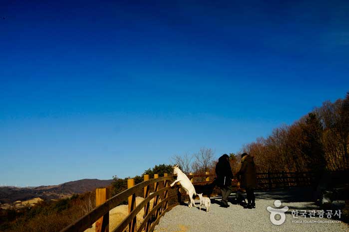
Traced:
<svg viewBox="0 0 349 232">
<path fill-rule="evenodd" d="M 197 193 L 211 195 L 214 190 L 214 174 L 206 172 L 204 175 L 188 175 L 195 186 Z M 257 173 L 257 181 L 260 189 L 271 189 L 279 187 L 309 186 L 314 176 L 310 172 L 279 172 L 279 173 Z M 112 232 L 152 232 L 158 224 L 160 218 L 173 207 L 182 202 L 180 185 L 174 188 L 169 187 L 173 176 L 163 177 L 154 175 L 154 179 L 149 179 L 149 175 L 144 175 L 144 181 L 134 185 L 134 180 L 128 180 L 128 189 L 108 199 L 107 189 L 96 190 L 96 208 L 88 214 L 78 219 L 73 224 L 64 228 L 60 232 L 84 232 L 96 223 L 96 232 L 109 232 L 109 211 L 128 199 L 128 216 Z M 152 186 L 154 184 L 154 187 Z M 161 185 L 161 187 L 159 187 Z M 232 187 L 238 188 L 239 183 L 235 180 Z M 153 193 L 150 194 L 150 188 Z M 169 195 L 170 190 L 175 193 Z M 136 206 L 136 193 L 144 191 L 144 200 Z M 199 190 L 199 191 L 198 191 Z M 173 192 L 173 191 L 172 191 Z M 161 201 L 160 201 L 161 198 Z M 153 208 L 150 210 L 150 201 L 154 199 Z M 136 226 L 137 214 L 144 210 L 143 221 L 140 226 Z"/>
</svg>

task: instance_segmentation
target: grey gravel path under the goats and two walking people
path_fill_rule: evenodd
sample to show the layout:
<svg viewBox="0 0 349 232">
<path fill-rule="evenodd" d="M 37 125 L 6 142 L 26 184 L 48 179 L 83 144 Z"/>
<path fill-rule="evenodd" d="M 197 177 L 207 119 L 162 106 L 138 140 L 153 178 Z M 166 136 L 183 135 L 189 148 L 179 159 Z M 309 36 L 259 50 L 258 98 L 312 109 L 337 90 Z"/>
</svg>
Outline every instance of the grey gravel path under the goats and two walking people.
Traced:
<svg viewBox="0 0 349 232">
<path fill-rule="evenodd" d="M 299 190 L 295 190 L 299 192 Z M 244 209 L 239 205 L 229 203 L 229 208 L 222 208 L 217 203 L 211 205 L 210 212 L 199 210 L 199 201 L 195 200 L 196 206 L 189 208 L 187 206 L 176 206 L 165 214 L 155 227 L 155 232 L 349 232 L 349 225 L 340 223 L 309 223 L 311 221 L 332 221 L 337 220 L 320 219 L 316 216 L 310 219 L 298 216 L 294 219 L 292 210 L 320 210 L 310 201 L 310 195 L 305 192 L 283 192 L 274 191 L 268 193 L 256 194 L 256 209 Z M 216 198 L 220 200 L 220 198 Z M 235 199 L 235 194 L 230 197 L 231 201 Z M 302 199 L 302 200 L 301 200 Z M 215 202 L 215 198 L 211 198 Z M 273 225 L 270 222 L 270 213 L 267 207 L 274 207 L 274 201 L 281 200 L 282 206 L 288 206 L 286 221 L 280 226 Z M 277 217 L 278 219 L 278 217 Z M 303 223 L 295 223 L 294 220 L 300 220 Z M 305 222 L 305 221 L 308 221 Z"/>
</svg>

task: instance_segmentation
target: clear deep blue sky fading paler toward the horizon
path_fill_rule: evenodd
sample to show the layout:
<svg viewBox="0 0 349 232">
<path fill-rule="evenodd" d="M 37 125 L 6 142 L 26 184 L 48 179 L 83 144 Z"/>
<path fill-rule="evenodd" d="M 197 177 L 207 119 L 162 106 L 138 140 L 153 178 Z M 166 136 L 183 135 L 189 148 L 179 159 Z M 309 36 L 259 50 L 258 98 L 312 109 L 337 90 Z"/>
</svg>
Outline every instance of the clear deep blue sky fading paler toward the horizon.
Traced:
<svg viewBox="0 0 349 232">
<path fill-rule="evenodd" d="M 0 184 L 219 157 L 348 91 L 346 0 L 1 0 Z"/>
</svg>

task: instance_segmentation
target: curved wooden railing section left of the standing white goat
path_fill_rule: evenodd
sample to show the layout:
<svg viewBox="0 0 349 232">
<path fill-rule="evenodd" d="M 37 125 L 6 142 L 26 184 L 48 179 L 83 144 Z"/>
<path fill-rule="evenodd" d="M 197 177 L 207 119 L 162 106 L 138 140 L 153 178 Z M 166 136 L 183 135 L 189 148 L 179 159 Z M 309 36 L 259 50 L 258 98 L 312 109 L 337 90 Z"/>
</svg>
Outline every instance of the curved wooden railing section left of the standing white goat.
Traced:
<svg viewBox="0 0 349 232">
<path fill-rule="evenodd" d="M 133 179 L 128 180 L 128 189 L 111 197 L 104 203 L 96 206 L 95 209 L 91 210 L 88 214 L 84 215 L 73 224 L 64 228 L 60 232 L 84 232 L 86 229 L 96 222 L 96 232 L 109 232 L 109 211 L 120 205 L 126 199 L 128 199 L 129 214 L 128 216 L 113 230 L 113 232 L 151 232 L 158 224 L 160 218 L 174 206 L 178 205 L 178 195 L 173 194 L 169 196 L 169 181 L 173 179 L 173 176 L 167 176 L 157 178 L 155 175 L 154 179 L 149 180 L 149 175 L 144 175 L 144 181 L 134 185 Z M 163 188 L 159 188 L 160 183 Z M 149 193 L 150 186 L 154 184 L 154 192 Z M 178 191 L 180 186 L 176 186 L 175 190 Z M 144 190 L 144 200 L 137 206 L 135 204 L 136 193 Z M 97 191 L 96 191 L 97 193 Z M 161 195 L 161 202 L 160 202 Z M 97 194 L 96 194 L 97 197 Z M 154 199 L 153 208 L 150 210 L 150 201 Z M 172 204 L 170 205 L 170 199 Z M 97 203 L 97 202 L 96 202 Z M 143 222 L 136 228 L 136 217 L 137 214 L 144 209 Z"/>
</svg>

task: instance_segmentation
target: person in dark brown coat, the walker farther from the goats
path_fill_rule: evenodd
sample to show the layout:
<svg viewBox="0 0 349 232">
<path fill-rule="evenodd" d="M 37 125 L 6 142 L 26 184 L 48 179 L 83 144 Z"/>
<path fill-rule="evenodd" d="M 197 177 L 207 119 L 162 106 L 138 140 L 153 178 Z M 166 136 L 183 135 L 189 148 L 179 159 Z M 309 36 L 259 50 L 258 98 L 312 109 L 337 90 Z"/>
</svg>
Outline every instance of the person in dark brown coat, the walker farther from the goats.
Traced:
<svg viewBox="0 0 349 232">
<path fill-rule="evenodd" d="M 257 177 L 253 155 L 247 153 L 241 155 L 241 168 L 237 176 L 240 187 L 246 190 L 248 208 L 256 208 L 254 188 L 257 187 Z"/>
</svg>

